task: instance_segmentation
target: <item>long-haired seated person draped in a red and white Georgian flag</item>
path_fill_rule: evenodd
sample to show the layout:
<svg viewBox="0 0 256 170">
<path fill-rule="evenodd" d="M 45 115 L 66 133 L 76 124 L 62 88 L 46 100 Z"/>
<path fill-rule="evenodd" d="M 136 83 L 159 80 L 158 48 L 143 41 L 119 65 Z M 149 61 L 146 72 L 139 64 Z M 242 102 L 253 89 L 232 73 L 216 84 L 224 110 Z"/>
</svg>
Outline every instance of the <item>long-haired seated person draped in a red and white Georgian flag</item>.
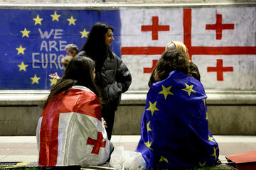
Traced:
<svg viewBox="0 0 256 170">
<path fill-rule="evenodd" d="M 113 148 L 94 79 L 95 62 L 74 57 L 50 89 L 36 129 L 38 166 L 97 165 L 109 159 Z"/>
</svg>

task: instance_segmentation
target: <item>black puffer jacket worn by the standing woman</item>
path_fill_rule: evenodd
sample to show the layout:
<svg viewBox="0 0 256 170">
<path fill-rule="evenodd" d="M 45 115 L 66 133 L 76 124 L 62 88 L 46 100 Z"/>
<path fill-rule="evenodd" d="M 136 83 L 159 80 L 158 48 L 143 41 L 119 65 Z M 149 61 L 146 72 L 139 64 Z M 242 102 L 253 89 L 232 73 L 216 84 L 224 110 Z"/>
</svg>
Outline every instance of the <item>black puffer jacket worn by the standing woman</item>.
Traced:
<svg viewBox="0 0 256 170">
<path fill-rule="evenodd" d="M 81 51 L 78 56 L 85 54 L 85 51 Z M 107 55 L 102 68 L 96 70 L 95 84 L 98 87 L 102 106 L 110 107 L 112 111 L 116 111 L 121 100 L 121 94 L 127 91 L 132 83 L 132 76 L 124 62 L 114 52 L 112 54 Z M 104 113 L 102 113 L 102 117 L 104 118 Z"/>
</svg>

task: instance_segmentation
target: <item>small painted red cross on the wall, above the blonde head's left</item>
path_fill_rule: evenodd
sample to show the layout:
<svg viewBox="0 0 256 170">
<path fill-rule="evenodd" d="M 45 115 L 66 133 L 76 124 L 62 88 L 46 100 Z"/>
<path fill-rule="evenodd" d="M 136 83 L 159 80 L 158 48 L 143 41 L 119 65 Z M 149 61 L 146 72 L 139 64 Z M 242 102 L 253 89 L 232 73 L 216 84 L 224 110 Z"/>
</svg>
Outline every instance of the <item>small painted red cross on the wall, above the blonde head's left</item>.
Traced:
<svg viewBox="0 0 256 170">
<path fill-rule="evenodd" d="M 152 26 L 142 26 L 142 31 L 152 31 L 152 40 L 158 40 L 159 31 L 170 30 L 170 26 L 159 26 L 158 16 L 152 16 Z"/>
</svg>

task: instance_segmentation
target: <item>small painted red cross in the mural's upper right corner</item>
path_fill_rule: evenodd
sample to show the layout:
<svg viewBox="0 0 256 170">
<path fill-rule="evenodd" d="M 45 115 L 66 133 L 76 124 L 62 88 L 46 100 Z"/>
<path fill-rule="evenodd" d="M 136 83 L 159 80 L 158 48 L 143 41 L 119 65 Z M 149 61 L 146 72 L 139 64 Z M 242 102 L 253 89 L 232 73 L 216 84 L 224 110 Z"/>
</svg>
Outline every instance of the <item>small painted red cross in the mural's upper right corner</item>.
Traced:
<svg viewBox="0 0 256 170">
<path fill-rule="evenodd" d="M 221 40 L 222 30 L 233 30 L 235 25 L 233 23 L 222 23 L 222 15 L 216 14 L 215 24 L 206 24 L 206 30 L 216 30 L 216 40 Z"/>
</svg>

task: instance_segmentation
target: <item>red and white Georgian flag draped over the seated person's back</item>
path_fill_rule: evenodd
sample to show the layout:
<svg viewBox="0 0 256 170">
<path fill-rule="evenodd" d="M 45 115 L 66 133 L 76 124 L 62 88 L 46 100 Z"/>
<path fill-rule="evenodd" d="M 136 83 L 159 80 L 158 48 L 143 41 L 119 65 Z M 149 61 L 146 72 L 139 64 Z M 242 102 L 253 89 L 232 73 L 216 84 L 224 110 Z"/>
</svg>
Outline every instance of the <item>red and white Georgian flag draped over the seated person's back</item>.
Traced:
<svg viewBox="0 0 256 170">
<path fill-rule="evenodd" d="M 100 102 L 85 86 L 73 86 L 48 103 L 36 137 L 38 166 L 97 165 L 110 156 Z"/>
</svg>

